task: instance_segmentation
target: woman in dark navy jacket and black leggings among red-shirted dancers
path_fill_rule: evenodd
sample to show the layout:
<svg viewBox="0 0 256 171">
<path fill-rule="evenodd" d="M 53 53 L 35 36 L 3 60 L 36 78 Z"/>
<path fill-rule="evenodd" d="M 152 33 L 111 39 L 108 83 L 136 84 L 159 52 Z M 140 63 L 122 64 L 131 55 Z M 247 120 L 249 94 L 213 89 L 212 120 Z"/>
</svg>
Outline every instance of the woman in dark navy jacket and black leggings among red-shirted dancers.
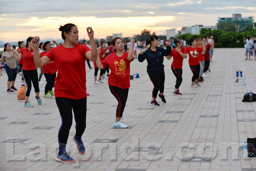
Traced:
<svg viewBox="0 0 256 171">
<path fill-rule="evenodd" d="M 158 47 L 158 36 L 148 37 L 146 45 L 148 44 L 150 44 L 150 48 L 145 52 L 140 51 L 138 59 L 140 62 L 143 62 L 145 59 L 147 60 L 147 73 L 154 85 L 152 92 L 153 100 L 150 105 L 159 106 L 156 101 L 158 91 L 160 91 L 158 96 L 161 98 L 162 102 L 166 103 L 163 95 L 165 79 L 163 56 L 168 56 L 172 53 L 172 48 L 168 42 L 166 42 L 166 49 Z"/>
</svg>

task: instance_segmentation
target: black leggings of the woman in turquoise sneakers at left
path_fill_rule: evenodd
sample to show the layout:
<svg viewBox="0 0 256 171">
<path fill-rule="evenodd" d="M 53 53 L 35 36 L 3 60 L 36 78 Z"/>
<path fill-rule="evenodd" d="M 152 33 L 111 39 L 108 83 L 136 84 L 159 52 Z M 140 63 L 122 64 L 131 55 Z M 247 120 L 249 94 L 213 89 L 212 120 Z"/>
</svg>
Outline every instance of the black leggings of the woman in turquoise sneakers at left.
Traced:
<svg viewBox="0 0 256 171">
<path fill-rule="evenodd" d="M 24 76 L 24 80 L 27 84 L 26 96 L 29 97 L 32 84 L 33 83 L 34 89 L 36 93 L 39 93 L 39 84 L 38 84 L 38 74 L 36 70 L 22 70 L 22 74 Z"/>
</svg>

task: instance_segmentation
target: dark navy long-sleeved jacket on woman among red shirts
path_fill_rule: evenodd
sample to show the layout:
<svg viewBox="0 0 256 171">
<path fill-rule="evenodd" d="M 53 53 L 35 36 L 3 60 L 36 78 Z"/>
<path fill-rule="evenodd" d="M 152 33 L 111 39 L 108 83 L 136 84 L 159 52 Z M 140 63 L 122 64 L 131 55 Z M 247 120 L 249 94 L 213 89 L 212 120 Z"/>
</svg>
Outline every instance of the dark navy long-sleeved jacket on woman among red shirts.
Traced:
<svg viewBox="0 0 256 171">
<path fill-rule="evenodd" d="M 160 75 L 164 73 L 163 56 L 172 53 L 172 47 L 167 46 L 166 49 L 157 47 L 157 51 L 153 52 L 148 48 L 142 55 L 138 56 L 140 62 L 147 60 L 147 73 Z"/>
</svg>

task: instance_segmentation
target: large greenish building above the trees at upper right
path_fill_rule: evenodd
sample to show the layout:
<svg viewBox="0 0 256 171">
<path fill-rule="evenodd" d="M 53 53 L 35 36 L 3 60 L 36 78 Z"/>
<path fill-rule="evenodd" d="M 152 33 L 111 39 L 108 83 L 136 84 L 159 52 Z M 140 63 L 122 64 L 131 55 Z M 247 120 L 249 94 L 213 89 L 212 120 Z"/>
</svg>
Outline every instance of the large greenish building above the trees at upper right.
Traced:
<svg viewBox="0 0 256 171">
<path fill-rule="evenodd" d="M 236 33 L 244 32 L 253 28 L 254 19 L 250 17 L 242 17 L 242 14 L 232 14 L 232 17 L 219 17 L 217 27 L 222 31 L 226 30 L 227 27 L 234 29 Z"/>
</svg>

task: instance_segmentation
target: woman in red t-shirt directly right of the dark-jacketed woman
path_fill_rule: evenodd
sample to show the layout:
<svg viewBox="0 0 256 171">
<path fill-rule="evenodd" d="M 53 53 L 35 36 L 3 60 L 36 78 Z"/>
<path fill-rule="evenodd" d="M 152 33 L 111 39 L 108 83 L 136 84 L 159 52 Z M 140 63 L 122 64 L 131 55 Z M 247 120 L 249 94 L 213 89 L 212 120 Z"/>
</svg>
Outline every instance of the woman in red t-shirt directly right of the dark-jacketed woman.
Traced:
<svg viewBox="0 0 256 171">
<path fill-rule="evenodd" d="M 169 56 L 166 56 L 167 59 L 174 57 L 174 61 L 172 63 L 172 71 L 176 77 L 176 85 L 174 95 L 182 95 L 180 93 L 179 87 L 182 82 L 182 65 L 183 59 L 187 58 L 187 50 L 186 48 L 182 47 L 183 43 L 180 38 L 175 39 L 174 43 L 176 48 L 172 50 L 172 53 Z"/>
</svg>

